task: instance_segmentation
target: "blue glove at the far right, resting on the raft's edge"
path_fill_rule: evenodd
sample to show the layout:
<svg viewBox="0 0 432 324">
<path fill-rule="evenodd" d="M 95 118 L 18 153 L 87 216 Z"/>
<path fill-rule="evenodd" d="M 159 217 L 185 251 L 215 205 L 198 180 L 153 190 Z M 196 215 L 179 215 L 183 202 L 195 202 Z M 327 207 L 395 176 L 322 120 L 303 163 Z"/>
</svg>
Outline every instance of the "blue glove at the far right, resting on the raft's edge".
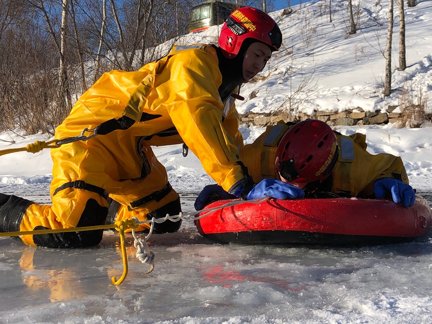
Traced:
<svg viewBox="0 0 432 324">
<path fill-rule="evenodd" d="M 415 201 L 414 189 L 409 184 L 393 178 L 376 180 L 374 193 L 377 198 L 385 198 L 391 193 L 393 201 L 402 203 L 404 207 L 411 207 Z"/>
</svg>

